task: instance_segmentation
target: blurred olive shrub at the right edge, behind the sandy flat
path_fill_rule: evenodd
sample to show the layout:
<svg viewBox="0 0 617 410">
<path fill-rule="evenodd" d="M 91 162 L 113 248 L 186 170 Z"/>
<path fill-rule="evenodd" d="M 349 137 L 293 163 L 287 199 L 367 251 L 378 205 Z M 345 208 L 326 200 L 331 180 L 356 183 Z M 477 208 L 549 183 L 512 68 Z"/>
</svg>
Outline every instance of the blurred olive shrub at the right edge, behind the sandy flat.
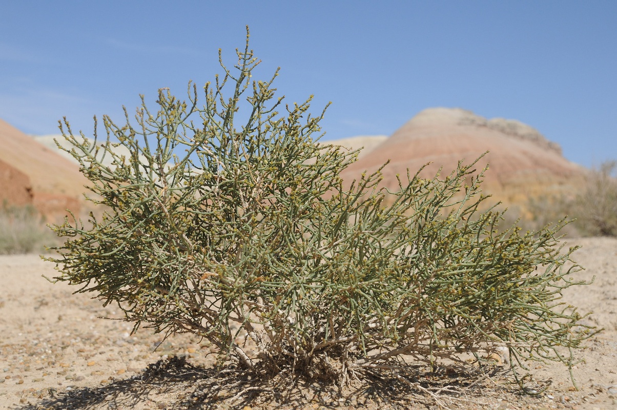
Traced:
<svg viewBox="0 0 617 410">
<path fill-rule="evenodd" d="M 576 225 L 586 235 L 617 236 L 617 161 L 592 169 L 571 204 Z"/>
</svg>

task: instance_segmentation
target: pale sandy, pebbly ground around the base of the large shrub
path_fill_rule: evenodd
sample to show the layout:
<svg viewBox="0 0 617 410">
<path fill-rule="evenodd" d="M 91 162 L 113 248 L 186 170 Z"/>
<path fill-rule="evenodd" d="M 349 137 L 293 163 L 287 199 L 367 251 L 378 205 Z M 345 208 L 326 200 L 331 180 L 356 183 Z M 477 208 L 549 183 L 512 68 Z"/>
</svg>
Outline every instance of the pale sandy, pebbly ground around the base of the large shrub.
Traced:
<svg viewBox="0 0 617 410">
<path fill-rule="evenodd" d="M 564 298 L 581 311 L 593 311 L 585 320 L 605 328 L 578 352 L 584 359 L 574 369 L 579 390 L 565 367 L 536 366 L 535 379 L 552 380 L 552 385 L 540 396 L 524 396 L 509 383 L 505 368 L 494 379 L 476 383 L 476 390 L 439 402 L 428 394 L 418 401 L 421 392 L 388 396 L 358 387 L 352 400 L 351 393 L 307 387 L 312 395 L 288 403 L 271 396 L 270 401 L 200 404 L 218 387 L 212 381 L 199 384 L 218 380 L 209 370 L 215 355 L 209 355 L 207 343 L 190 335 L 164 341 L 147 330 L 130 335 L 130 325 L 122 320 L 100 319 L 119 317 L 117 307 L 102 307 L 87 295 L 72 295 L 74 289 L 64 283 L 41 277 L 54 275 L 49 262 L 36 255 L 0 256 L 0 409 L 617 409 L 617 239 L 569 241 L 574 244 L 583 246 L 575 254 L 586 267 L 579 277 L 595 276 L 595 282 L 566 290 Z M 183 359 L 153 365 L 175 355 Z"/>
</svg>

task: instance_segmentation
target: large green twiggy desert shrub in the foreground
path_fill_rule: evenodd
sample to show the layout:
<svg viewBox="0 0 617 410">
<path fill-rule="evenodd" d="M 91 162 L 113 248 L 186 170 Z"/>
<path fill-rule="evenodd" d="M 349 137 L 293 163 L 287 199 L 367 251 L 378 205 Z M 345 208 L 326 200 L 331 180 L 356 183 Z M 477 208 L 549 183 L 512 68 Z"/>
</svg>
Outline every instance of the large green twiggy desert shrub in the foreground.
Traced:
<svg viewBox="0 0 617 410">
<path fill-rule="evenodd" d="M 357 153 L 313 139 L 323 112 L 310 115 L 310 99 L 283 106 L 277 74 L 252 80 L 248 41 L 236 52 L 202 107 L 191 83 L 188 102 L 159 90 L 157 112 L 104 117 L 98 148 L 60 125 L 109 211 L 54 227 L 66 238 L 49 257 L 57 280 L 117 303 L 135 328 L 195 333 L 262 375 L 399 377 L 403 356 L 469 368 L 461 354 L 499 346 L 515 363 L 574 363 L 560 346 L 593 331 L 559 301 L 580 283 L 574 249 L 557 247 L 565 222 L 498 231 L 500 212 L 478 212 L 474 164 L 401 176 L 386 205 L 380 172 L 343 182 Z"/>
</svg>

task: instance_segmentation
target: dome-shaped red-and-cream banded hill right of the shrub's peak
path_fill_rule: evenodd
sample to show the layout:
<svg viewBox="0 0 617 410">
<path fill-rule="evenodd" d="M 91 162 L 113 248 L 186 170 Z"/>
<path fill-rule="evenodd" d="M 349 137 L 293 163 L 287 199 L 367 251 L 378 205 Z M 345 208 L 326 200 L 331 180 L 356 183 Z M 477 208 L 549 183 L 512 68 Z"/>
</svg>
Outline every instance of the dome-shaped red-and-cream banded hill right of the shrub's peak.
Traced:
<svg viewBox="0 0 617 410">
<path fill-rule="evenodd" d="M 524 205 L 539 195 L 561 195 L 580 186 L 584 169 L 561 155 L 558 144 L 516 120 L 491 119 L 463 109 L 431 108 L 420 112 L 383 143 L 347 168 L 342 177 L 357 178 L 363 171 L 378 169 L 384 162 L 382 185 L 395 189 L 395 175 L 423 172 L 434 176 L 440 167 L 449 174 L 460 159 L 472 162 L 489 151 L 478 171 L 489 164 L 482 190 L 505 204 Z"/>
</svg>

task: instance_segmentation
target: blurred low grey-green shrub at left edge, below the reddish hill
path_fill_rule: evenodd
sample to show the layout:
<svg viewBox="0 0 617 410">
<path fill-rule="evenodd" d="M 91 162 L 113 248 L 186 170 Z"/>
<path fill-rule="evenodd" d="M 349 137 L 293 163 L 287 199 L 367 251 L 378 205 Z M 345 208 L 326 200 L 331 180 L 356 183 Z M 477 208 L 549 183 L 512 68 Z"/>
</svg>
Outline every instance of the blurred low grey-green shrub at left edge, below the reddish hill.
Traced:
<svg viewBox="0 0 617 410">
<path fill-rule="evenodd" d="M 0 254 L 41 252 L 45 245 L 55 242 L 33 206 L 0 207 Z"/>
</svg>

